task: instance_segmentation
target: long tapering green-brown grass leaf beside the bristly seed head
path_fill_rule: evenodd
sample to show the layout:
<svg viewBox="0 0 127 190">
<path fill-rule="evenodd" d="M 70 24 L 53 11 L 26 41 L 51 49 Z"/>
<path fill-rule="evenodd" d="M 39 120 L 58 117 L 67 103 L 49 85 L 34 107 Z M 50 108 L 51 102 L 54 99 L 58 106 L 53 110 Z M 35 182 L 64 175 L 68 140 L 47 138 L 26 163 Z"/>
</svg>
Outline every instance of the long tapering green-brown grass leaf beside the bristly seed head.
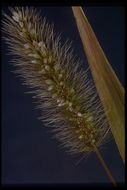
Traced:
<svg viewBox="0 0 127 190">
<path fill-rule="evenodd" d="M 72 7 L 72 10 L 99 97 L 124 162 L 124 88 L 108 62 L 82 8 Z"/>
</svg>

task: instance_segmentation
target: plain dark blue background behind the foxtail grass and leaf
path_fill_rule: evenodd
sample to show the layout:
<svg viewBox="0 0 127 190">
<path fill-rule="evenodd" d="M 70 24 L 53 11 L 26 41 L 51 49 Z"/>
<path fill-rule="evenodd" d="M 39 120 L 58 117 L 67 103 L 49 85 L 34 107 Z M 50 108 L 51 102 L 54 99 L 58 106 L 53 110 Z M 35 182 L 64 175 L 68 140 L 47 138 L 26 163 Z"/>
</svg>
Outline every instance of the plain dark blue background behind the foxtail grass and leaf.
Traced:
<svg viewBox="0 0 127 190">
<path fill-rule="evenodd" d="M 39 7 L 37 7 L 39 8 Z M 7 12 L 6 7 L 3 8 Z M 73 41 L 76 54 L 84 52 L 70 7 L 40 7 L 42 16 L 53 22 L 62 41 Z M 95 34 L 124 85 L 124 8 L 85 7 Z M 103 183 L 109 179 L 95 154 L 76 166 L 81 157 L 70 156 L 58 148 L 50 130 L 37 119 L 40 116 L 32 95 L 12 72 L 11 56 L 2 42 L 2 183 Z M 84 61 L 87 68 L 87 61 Z M 124 166 L 112 140 L 101 150 L 117 182 L 124 181 Z"/>
</svg>

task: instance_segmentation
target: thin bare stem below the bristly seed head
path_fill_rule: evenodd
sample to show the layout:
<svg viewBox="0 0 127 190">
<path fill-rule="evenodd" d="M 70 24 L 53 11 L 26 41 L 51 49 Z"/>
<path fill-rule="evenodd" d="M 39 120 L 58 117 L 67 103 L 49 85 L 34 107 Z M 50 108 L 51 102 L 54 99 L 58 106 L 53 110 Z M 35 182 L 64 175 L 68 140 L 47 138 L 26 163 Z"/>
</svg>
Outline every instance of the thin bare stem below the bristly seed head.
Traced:
<svg viewBox="0 0 127 190">
<path fill-rule="evenodd" d="M 100 160 L 102 166 L 104 167 L 104 169 L 105 169 L 105 171 L 106 171 L 106 173 L 107 173 L 107 175 L 108 175 L 108 177 L 109 177 L 111 183 L 116 187 L 117 184 L 116 184 L 116 182 L 115 182 L 115 179 L 114 179 L 114 177 L 112 176 L 112 174 L 111 174 L 111 172 L 110 172 L 110 170 L 109 170 L 109 168 L 108 168 L 106 162 L 104 161 L 104 159 L 103 159 L 101 153 L 99 152 L 98 148 L 97 148 L 95 145 L 93 145 L 93 146 L 94 146 L 94 149 L 95 149 L 95 151 L 96 151 L 97 157 L 98 157 L 98 159 Z"/>
</svg>

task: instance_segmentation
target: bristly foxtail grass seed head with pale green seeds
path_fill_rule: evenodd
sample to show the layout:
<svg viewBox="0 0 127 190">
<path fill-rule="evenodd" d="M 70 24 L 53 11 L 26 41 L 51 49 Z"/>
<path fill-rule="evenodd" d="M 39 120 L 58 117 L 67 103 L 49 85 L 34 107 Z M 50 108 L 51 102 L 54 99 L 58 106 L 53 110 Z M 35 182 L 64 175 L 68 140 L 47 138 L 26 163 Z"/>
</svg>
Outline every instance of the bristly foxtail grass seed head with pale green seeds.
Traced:
<svg viewBox="0 0 127 190">
<path fill-rule="evenodd" d="M 4 13 L 3 31 L 16 73 L 32 88 L 42 112 L 40 119 L 50 126 L 62 147 L 70 153 L 89 153 L 109 137 L 110 129 L 81 61 L 71 45 L 60 43 L 39 13 L 32 8 L 9 8 Z"/>
</svg>

